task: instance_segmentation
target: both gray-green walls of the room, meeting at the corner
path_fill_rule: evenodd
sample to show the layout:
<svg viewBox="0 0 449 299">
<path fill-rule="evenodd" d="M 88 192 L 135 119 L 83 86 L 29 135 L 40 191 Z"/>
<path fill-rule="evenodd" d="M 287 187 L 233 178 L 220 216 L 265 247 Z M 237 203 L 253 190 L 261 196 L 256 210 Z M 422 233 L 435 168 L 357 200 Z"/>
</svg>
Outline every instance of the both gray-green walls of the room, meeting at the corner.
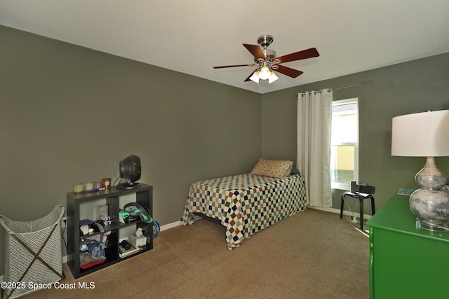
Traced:
<svg viewBox="0 0 449 299">
<path fill-rule="evenodd" d="M 449 109 L 449 54 L 258 95 L 1 26 L 0 43 L 0 214 L 21 221 L 65 205 L 75 181 L 114 179 L 130 153 L 154 186 L 154 218 L 179 221 L 193 181 L 296 159 L 297 92 L 368 79 L 334 99 L 359 98 L 360 182 L 380 208 L 416 188 L 425 162 L 391 157 L 391 118 Z M 449 174 L 449 158 L 436 162 Z"/>
</svg>

